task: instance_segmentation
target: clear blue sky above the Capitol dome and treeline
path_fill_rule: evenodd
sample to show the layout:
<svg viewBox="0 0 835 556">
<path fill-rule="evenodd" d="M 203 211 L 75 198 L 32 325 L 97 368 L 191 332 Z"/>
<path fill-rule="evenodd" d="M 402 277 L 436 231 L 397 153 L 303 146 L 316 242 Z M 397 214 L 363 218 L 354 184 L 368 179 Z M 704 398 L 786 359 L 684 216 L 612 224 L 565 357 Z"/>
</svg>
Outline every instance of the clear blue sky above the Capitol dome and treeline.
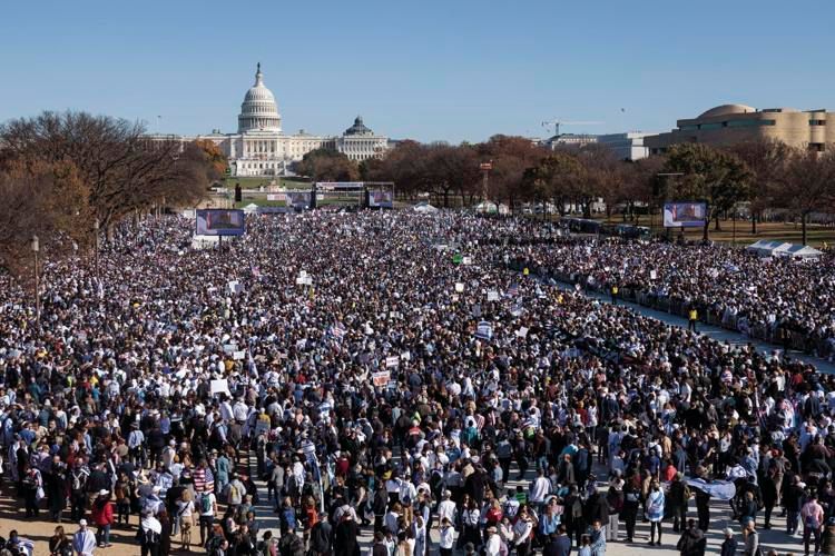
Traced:
<svg viewBox="0 0 835 556">
<path fill-rule="evenodd" d="M 833 20 L 831 0 L 4 2 L 0 121 L 235 131 L 259 61 L 287 132 L 664 131 L 726 102 L 835 109 Z"/>
</svg>

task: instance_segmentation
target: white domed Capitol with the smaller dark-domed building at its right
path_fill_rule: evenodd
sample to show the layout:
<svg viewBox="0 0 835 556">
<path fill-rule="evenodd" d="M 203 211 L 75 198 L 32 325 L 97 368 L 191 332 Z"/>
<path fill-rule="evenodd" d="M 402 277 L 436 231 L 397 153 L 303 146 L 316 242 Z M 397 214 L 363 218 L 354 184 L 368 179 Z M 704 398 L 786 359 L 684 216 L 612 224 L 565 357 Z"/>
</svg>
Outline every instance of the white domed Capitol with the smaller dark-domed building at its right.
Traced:
<svg viewBox="0 0 835 556">
<path fill-rule="evenodd" d="M 155 140 L 170 140 L 169 135 L 153 135 Z M 343 152 L 351 160 L 381 157 L 389 148 L 389 138 L 374 133 L 356 117 L 354 125 L 341 136 L 314 136 L 303 130 L 296 135 L 282 131 L 282 116 L 273 92 L 264 85 L 264 73 L 258 63 L 253 85 L 240 105 L 238 132 L 174 136 L 186 142 L 209 140 L 220 147 L 229 161 L 233 176 L 279 176 L 287 172 L 291 162 L 301 160 L 315 149 Z"/>
</svg>

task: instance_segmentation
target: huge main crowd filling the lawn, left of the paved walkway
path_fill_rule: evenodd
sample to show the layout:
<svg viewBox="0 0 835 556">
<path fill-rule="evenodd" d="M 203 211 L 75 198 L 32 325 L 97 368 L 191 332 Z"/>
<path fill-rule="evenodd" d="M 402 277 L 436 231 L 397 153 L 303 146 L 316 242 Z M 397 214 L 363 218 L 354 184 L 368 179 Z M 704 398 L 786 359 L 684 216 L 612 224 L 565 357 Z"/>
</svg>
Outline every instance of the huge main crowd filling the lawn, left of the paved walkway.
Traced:
<svg viewBox="0 0 835 556">
<path fill-rule="evenodd" d="M 28 518 L 77 524 L 51 554 L 106 554 L 114 532 L 143 556 L 704 554 L 726 499 L 723 550 L 765 553 L 782 508 L 787 538 L 832 554 L 832 376 L 508 268 L 599 276 L 664 247 L 589 254 L 460 212 L 249 217 L 216 249 L 193 227 L 48 257 L 39 315 L 0 277 L 6 484 Z"/>
</svg>

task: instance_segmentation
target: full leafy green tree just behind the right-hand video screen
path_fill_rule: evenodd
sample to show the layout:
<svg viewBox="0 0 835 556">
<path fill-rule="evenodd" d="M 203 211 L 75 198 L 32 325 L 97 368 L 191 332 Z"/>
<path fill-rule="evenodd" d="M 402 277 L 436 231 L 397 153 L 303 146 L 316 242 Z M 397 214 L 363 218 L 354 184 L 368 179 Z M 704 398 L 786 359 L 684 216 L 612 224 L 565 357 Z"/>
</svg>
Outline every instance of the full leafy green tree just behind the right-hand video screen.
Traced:
<svg viewBox="0 0 835 556">
<path fill-rule="evenodd" d="M 721 214 L 748 198 L 752 172 L 746 163 L 736 155 L 707 145 L 674 145 L 667 151 L 665 171 L 684 175 L 672 188 L 678 199 L 707 202 L 705 240 L 711 218 L 716 230 L 720 230 Z"/>
</svg>

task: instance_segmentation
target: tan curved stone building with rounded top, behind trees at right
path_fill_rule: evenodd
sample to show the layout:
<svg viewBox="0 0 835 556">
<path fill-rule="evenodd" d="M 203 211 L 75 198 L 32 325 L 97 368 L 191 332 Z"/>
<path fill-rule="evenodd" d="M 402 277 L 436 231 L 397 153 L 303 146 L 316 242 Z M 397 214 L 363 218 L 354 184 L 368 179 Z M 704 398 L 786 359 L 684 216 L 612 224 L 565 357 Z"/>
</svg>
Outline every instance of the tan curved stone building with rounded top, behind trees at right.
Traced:
<svg viewBox="0 0 835 556">
<path fill-rule="evenodd" d="M 828 123 L 827 123 L 828 122 Z M 678 120 L 678 129 L 646 137 L 650 155 L 671 145 L 700 142 L 724 147 L 757 139 L 777 139 L 790 147 L 823 151 L 835 142 L 835 112 L 794 108 L 757 110 L 745 105 L 723 105 L 698 118 Z"/>
</svg>

